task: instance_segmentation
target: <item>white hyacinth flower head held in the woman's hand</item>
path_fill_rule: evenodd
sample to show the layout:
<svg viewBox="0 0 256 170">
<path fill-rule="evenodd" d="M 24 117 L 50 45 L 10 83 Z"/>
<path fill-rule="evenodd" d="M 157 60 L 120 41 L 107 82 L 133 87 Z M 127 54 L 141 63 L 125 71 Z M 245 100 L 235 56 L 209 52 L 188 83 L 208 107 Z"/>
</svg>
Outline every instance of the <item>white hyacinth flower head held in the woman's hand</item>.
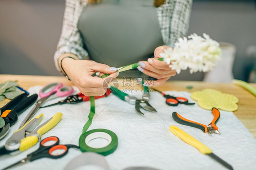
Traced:
<svg viewBox="0 0 256 170">
<path fill-rule="evenodd" d="M 179 38 L 174 44 L 174 49 L 165 49 L 160 56 L 178 74 L 188 68 L 190 73 L 208 72 L 218 63 L 221 49 L 220 44 L 209 35 L 204 33 L 201 37 L 191 34 L 188 39 Z"/>
</svg>

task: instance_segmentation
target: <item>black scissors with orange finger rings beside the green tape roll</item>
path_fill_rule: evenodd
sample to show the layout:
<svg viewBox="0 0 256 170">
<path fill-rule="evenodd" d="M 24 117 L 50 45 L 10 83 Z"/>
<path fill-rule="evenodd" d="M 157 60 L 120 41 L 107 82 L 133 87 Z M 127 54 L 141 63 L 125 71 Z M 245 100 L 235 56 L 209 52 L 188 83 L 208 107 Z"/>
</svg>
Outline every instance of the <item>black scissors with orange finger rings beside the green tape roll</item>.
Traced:
<svg viewBox="0 0 256 170">
<path fill-rule="evenodd" d="M 27 155 L 27 157 L 23 160 L 16 162 L 3 170 L 7 170 L 9 168 L 13 168 L 18 165 L 26 164 L 27 162 L 31 162 L 40 158 L 51 158 L 51 159 L 58 159 L 65 155 L 67 155 L 69 148 L 77 148 L 78 146 L 75 145 L 59 145 L 60 140 L 56 136 L 46 137 L 40 142 L 40 146 L 38 150 L 32 152 L 31 154 Z"/>
</svg>

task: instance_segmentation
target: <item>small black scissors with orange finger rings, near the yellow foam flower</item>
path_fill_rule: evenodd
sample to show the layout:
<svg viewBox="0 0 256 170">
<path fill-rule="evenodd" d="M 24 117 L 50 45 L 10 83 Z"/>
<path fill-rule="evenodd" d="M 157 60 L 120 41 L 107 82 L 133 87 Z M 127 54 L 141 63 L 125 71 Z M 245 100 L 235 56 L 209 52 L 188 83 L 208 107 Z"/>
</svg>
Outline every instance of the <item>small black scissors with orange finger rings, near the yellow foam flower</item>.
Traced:
<svg viewBox="0 0 256 170">
<path fill-rule="evenodd" d="M 161 93 L 166 98 L 165 103 L 168 104 L 169 106 L 178 106 L 179 103 L 180 104 L 185 104 L 185 105 L 195 104 L 195 103 L 189 103 L 188 99 L 186 99 L 184 97 L 174 97 L 174 96 L 166 95 L 164 92 L 160 92 L 156 89 L 154 89 L 154 91 L 157 91 L 157 92 Z"/>
</svg>

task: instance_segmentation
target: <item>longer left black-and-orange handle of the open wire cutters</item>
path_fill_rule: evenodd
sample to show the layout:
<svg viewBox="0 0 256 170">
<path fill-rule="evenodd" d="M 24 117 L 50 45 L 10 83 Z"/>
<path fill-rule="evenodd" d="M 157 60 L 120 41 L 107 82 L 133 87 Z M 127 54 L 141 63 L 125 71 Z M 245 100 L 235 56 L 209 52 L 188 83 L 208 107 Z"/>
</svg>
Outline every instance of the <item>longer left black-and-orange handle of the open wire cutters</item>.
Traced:
<svg viewBox="0 0 256 170">
<path fill-rule="evenodd" d="M 198 128 L 202 130 L 203 132 L 207 133 L 207 126 L 195 121 L 190 121 L 182 116 L 180 116 L 177 112 L 173 112 L 172 114 L 174 121 L 182 124 L 182 125 L 187 125 L 187 126 L 192 126 L 195 128 Z"/>
</svg>

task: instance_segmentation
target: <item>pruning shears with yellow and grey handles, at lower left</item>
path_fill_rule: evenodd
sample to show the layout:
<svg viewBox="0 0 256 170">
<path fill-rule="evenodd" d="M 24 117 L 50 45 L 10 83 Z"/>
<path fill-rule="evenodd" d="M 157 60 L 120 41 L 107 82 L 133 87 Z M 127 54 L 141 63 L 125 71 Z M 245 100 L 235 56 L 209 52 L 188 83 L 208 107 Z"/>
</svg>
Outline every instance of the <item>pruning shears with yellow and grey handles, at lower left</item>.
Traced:
<svg viewBox="0 0 256 170">
<path fill-rule="evenodd" d="M 28 121 L 18 131 L 15 131 L 12 136 L 5 142 L 5 146 L 0 148 L 0 155 L 8 154 L 14 151 L 26 151 L 36 145 L 41 140 L 41 136 L 51 130 L 61 120 L 62 113 L 58 112 L 46 122 L 40 124 L 44 115 L 41 113 L 37 117 Z"/>
</svg>

